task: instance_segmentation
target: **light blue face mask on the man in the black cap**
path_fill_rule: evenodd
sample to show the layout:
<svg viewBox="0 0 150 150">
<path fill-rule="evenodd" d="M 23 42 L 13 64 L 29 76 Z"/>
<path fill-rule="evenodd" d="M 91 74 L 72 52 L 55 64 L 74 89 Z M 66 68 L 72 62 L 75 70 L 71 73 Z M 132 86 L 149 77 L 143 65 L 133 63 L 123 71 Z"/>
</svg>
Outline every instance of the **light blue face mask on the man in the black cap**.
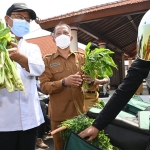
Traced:
<svg viewBox="0 0 150 150">
<path fill-rule="evenodd" d="M 23 37 L 24 35 L 30 32 L 30 24 L 26 20 L 21 19 L 12 19 L 12 20 L 13 26 L 11 27 L 11 31 L 17 37 Z"/>
</svg>

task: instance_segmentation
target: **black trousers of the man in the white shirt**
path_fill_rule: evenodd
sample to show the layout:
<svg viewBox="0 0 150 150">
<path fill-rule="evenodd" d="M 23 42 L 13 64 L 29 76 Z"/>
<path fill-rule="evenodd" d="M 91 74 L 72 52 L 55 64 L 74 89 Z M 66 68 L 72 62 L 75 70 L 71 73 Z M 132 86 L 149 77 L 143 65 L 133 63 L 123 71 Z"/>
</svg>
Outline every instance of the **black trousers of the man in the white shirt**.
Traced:
<svg viewBox="0 0 150 150">
<path fill-rule="evenodd" d="M 36 128 L 0 132 L 0 150 L 35 150 Z"/>
</svg>

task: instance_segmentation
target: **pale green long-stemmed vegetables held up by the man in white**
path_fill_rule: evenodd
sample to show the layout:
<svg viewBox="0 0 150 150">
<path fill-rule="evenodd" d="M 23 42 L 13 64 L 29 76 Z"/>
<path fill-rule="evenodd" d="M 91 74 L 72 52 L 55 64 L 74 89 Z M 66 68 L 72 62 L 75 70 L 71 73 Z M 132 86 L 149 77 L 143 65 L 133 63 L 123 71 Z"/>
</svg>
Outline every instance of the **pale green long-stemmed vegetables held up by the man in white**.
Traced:
<svg viewBox="0 0 150 150">
<path fill-rule="evenodd" d="M 10 48 L 8 42 L 12 41 L 14 42 L 15 38 L 11 37 L 10 29 L 0 20 L 0 89 L 6 88 L 9 92 L 15 90 L 25 92 L 16 64 L 11 61 L 7 51 L 7 48 Z"/>
</svg>

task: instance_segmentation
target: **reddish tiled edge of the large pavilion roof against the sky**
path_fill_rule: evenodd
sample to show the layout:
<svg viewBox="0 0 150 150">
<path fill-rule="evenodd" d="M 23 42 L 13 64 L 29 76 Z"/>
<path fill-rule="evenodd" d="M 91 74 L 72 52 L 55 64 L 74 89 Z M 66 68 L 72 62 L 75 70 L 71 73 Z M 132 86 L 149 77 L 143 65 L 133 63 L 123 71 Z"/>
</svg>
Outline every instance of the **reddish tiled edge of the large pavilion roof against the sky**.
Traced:
<svg viewBox="0 0 150 150">
<path fill-rule="evenodd" d="M 90 12 L 95 12 L 99 10 L 104 10 L 104 9 L 109 9 L 109 8 L 114 8 L 114 7 L 124 6 L 124 5 L 131 5 L 134 3 L 141 3 L 144 1 L 149 1 L 149 0 L 120 0 L 120 1 L 106 3 L 102 5 L 96 5 L 96 6 L 85 8 L 85 9 L 80 9 L 79 11 L 66 13 L 66 14 L 55 16 L 55 17 L 48 18 L 48 19 L 43 19 L 43 20 L 39 19 L 39 20 L 36 20 L 36 22 L 41 24 L 41 23 L 45 23 L 45 22 L 49 22 L 53 20 L 62 20 L 64 18 L 69 18 L 73 16 L 78 16 L 78 15 L 87 14 Z"/>
</svg>

